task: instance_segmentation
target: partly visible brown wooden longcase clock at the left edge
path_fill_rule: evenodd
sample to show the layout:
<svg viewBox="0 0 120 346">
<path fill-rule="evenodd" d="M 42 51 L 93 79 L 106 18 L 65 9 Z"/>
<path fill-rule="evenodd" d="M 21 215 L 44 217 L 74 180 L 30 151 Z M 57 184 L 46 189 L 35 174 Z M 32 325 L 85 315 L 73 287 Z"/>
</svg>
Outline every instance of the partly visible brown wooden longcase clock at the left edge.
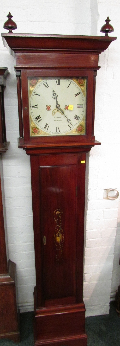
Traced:
<svg viewBox="0 0 120 346">
<path fill-rule="evenodd" d="M 7 67 L 0 67 L 0 155 L 6 153 L 10 142 L 6 141 L 6 124 L 4 117 L 4 88 Z M 8 261 L 4 231 L 2 189 L 0 177 L 0 339 L 9 338 L 20 341 L 16 303 L 16 264 Z"/>
</svg>

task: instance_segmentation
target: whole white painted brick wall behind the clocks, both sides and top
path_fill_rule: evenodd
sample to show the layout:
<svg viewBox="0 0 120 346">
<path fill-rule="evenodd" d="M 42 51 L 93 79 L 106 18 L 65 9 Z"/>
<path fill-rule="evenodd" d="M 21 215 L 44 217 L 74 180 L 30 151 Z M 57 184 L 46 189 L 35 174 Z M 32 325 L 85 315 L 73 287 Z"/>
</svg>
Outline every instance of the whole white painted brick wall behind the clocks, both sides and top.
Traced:
<svg viewBox="0 0 120 346">
<path fill-rule="evenodd" d="M 103 199 L 103 190 L 120 190 L 120 0 L 15 0 L 3 2 L 0 31 L 11 11 L 16 33 L 102 35 L 100 28 L 109 15 L 117 36 L 99 57 L 101 69 L 96 79 L 95 136 L 101 146 L 91 149 L 86 163 L 84 234 L 84 286 L 86 316 L 108 313 L 110 295 L 120 283 L 120 217 L 118 199 Z M 17 265 L 20 311 L 33 309 L 35 263 L 33 244 L 30 158 L 17 147 L 19 137 L 15 60 L 0 38 L 0 66 L 10 75 L 4 92 L 7 140 L 3 155 L 9 257 Z M 117 229 L 117 237 L 116 237 Z M 111 293 L 110 293 L 111 292 Z"/>
</svg>

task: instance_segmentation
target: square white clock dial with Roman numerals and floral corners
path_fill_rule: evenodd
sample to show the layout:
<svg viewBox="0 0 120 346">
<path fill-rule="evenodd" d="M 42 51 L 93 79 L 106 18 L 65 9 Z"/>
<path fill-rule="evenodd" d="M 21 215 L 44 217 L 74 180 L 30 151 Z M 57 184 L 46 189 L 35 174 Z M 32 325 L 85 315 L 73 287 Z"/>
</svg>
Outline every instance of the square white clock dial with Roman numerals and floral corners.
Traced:
<svg viewBox="0 0 120 346">
<path fill-rule="evenodd" d="M 86 78 L 28 78 L 30 136 L 86 134 Z"/>
</svg>

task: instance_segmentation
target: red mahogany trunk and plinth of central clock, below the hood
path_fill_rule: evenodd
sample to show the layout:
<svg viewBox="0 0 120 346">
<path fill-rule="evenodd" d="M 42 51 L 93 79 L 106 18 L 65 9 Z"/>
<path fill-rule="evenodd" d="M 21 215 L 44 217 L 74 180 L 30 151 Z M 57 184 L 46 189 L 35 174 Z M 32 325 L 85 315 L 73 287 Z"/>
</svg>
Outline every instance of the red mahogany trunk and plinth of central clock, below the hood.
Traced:
<svg viewBox="0 0 120 346">
<path fill-rule="evenodd" d="M 31 155 L 36 343 L 87 345 L 82 300 L 86 153 Z M 69 343 L 68 343 L 69 340 Z M 39 342 L 39 343 L 38 343 Z"/>
</svg>

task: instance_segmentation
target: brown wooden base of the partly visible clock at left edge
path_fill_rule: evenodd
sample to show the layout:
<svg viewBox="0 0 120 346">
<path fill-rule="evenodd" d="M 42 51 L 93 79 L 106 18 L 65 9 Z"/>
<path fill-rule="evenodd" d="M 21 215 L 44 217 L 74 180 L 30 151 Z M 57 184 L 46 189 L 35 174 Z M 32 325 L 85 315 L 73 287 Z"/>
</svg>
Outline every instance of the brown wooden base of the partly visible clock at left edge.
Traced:
<svg viewBox="0 0 120 346">
<path fill-rule="evenodd" d="M 0 339 L 19 342 L 15 272 L 16 264 L 9 260 L 8 273 L 0 275 Z"/>
</svg>

